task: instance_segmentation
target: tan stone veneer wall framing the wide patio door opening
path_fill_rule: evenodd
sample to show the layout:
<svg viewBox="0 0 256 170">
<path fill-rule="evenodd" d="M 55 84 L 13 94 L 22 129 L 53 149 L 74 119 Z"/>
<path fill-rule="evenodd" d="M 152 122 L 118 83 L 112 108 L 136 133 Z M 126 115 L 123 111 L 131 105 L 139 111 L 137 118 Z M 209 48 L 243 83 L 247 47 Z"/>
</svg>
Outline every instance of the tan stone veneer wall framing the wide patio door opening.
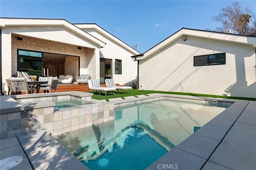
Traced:
<svg viewBox="0 0 256 170">
<path fill-rule="evenodd" d="M 55 41 L 46 41 L 44 39 L 36 39 L 34 37 L 22 37 L 22 41 L 18 41 L 16 36 L 12 36 L 12 74 L 17 71 L 17 49 L 40 51 L 47 53 L 56 53 L 63 55 L 80 56 L 80 71 L 86 71 L 86 48 L 81 50 L 75 45 L 58 43 Z"/>
</svg>

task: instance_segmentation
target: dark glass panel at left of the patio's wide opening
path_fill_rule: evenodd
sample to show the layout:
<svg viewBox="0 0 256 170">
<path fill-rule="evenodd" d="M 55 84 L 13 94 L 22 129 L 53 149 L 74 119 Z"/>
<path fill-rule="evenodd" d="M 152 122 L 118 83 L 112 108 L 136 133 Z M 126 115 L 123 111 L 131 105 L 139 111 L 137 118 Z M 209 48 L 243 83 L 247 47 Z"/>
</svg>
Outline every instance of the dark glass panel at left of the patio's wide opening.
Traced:
<svg viewBox="0 0 256 170">
<path fill-rule="evenodd" d="M 28 75 L 42 75 L 42 53 L 18 49 L 17 71 L 27 72 Z"/>
</svg>

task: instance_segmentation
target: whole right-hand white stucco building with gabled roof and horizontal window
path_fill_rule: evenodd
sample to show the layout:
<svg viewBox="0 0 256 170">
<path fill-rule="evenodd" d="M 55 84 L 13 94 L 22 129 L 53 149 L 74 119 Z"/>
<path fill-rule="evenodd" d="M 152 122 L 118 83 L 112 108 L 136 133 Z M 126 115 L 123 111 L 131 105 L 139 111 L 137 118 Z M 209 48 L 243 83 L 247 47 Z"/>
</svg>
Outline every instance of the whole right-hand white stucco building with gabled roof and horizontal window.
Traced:
<svg viewBox="0 0 256 170">
<path fill-rule="evenodd" d="M 138 61 L 140 90 L 256 98 L 256 37 L 182 28 Z"/>
</svg>

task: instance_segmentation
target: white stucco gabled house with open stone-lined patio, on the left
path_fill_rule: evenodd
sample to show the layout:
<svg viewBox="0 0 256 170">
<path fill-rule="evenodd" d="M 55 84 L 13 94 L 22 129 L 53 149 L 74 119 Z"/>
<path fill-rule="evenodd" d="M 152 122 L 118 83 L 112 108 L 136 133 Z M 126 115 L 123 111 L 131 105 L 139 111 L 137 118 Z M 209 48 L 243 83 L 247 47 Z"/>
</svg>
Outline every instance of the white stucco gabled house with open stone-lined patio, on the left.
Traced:
<svg viewBox="0 0 256 170">
<path fill-rule="evenodd" d="M 113 78 L 130 85 L 136 80 L 138 51 L 93 24 L 72 24 L 64 19 L 0 18 L 1 93 L 5 79 L 16 71 L 37 76 L 80 74 Z"/>
</svg>

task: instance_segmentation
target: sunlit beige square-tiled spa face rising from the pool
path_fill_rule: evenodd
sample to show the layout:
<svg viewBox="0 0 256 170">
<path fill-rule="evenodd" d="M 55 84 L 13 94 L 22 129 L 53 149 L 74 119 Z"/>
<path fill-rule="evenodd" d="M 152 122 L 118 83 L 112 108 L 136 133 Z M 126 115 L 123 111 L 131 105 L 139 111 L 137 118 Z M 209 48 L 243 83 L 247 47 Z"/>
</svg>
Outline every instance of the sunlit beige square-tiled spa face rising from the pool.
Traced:
<svg viewBox="0 0 256 170">
<path fill-rule="evenodd" d="M 82 105 L 44 114 L 44 130 L 54 136 L 110 120 L 114 120 L 113 103 Z"/>
</svg>

